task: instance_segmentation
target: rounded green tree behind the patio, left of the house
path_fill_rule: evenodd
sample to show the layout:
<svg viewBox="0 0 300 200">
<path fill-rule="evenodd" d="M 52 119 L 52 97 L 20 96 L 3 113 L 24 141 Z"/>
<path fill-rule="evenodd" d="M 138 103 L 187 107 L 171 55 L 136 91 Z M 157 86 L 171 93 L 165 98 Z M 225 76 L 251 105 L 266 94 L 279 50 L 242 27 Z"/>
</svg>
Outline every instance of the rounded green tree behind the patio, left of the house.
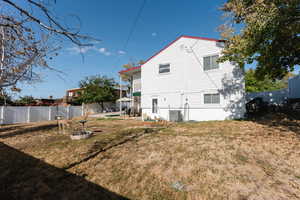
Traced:
<svg viewBox="0 0 300 200">
<path fill-rule="evenodd" d="M 89 76 L 79 83 L 84 88 L 78 101 L 82 103 L 98 103 L 104 109 L 104 102 L 115 101 L 118 98 L 116 82 L 113 78 L 106 76 Z"/>
</svg>

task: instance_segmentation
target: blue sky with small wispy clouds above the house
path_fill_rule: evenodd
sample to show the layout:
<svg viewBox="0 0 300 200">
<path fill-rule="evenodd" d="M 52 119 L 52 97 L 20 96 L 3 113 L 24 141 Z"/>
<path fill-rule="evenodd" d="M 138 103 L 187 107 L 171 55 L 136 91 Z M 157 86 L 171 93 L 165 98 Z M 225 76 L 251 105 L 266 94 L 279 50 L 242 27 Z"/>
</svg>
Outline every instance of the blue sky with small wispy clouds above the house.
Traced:
<svg viewBox="0 0 300 200">
<path fill-rule="evenodd" d="M 179 35 L 219 38 L 222 24 L 218 8 L 225 0 L 147 0 L 126 49 L 124 43 L 143 0 L 57 1 L 55 11 L 70 21 L 75 14 L 81 19 L 81 32 L 101 40 L 92 48 L 78 48 L 65 42 L 51 66 L 64 71 L 42 71 L 43 82 L 21 85 L 20 95 L 62 97 L 65 90 L 78 87 L 89 75 L 107 75 L 118 80 L 118 71 L 129 61 L 146 60 Z M 61 78 L 63 76 L 63 78 Z"/>
</svg>

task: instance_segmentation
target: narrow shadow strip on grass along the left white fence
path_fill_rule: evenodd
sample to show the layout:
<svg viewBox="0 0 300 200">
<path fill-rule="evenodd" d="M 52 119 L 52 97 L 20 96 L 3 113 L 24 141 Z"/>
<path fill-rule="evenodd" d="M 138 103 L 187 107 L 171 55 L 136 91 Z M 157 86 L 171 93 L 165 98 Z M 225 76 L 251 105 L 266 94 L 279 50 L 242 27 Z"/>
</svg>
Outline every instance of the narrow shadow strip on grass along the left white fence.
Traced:
<svg viewBox="0 0 300 200">
<path fill-rule="evenodd" d="M 28 126 L 28 127 L 24 127 L 23 126 L 17 126 L 17 127 L 12 127 L 11 129 L 9 128 L 0 128 L 0 139 L 5 139 L 5 138 L 10 138 L 10 137 L 14 137 L 17 135 L 23 135 L 23 134 L 27 134 L 27 133 L 31 133 L 32 131 L 43 131 L 43 130 L 47 130 L 47 129 L 51 129 L 57 127 L 56 124 L 41 124 L 38 126 Z M 4 132 L 6 130 L 6 132 Z M 4 132 L 4 133 L 2 133 Z"/>
</svg>

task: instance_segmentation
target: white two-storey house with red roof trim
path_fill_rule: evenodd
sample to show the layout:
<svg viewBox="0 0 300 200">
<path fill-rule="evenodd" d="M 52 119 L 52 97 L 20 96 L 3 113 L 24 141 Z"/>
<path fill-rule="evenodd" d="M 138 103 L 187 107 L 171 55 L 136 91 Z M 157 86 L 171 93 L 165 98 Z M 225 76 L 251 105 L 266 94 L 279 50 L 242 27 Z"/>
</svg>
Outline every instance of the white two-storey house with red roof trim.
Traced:
<svg viewBox="0 0 300 200">
<path fill-rule="evenodd" d="M 217 63 L 224 41 L 180 36 L 143 65 L 120 71 L 131 82 L 132 108 L 143 119 L 184 121 L 242 118 L 244 73 L 230 62 Z"/>
</svg>

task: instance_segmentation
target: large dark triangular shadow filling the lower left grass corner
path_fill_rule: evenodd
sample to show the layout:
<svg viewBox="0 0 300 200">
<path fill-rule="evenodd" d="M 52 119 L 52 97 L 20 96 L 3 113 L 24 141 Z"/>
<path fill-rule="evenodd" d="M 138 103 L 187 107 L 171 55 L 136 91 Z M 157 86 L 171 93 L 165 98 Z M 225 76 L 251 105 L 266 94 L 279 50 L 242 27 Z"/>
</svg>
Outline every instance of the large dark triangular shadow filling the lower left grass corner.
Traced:
<svg viewBox="0 0 300 200">
<path fill-rule="evenodd" d="M 0 143 L 1 199 L 127 199 Z"/>
</svg>

